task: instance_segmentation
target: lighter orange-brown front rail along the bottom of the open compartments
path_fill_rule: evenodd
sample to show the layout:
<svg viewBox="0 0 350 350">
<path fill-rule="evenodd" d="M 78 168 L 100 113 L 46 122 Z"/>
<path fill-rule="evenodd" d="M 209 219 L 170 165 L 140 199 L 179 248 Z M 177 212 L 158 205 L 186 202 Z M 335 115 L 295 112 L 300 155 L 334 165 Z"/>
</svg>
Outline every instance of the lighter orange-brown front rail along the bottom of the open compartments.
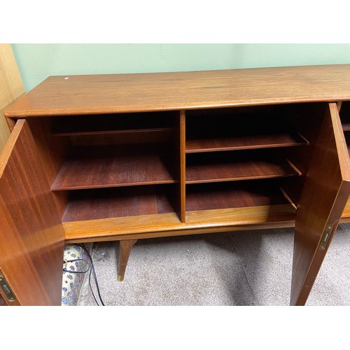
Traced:
<svg viewBox="0 0 350 350">
<path fill-rule="evenodd" d="M 115 241 L 212 232 L 293 227 L 291 204 L 189 211 L 186 223 L 175 213 L 63 223 L 66 241 Z"/>
</svg>

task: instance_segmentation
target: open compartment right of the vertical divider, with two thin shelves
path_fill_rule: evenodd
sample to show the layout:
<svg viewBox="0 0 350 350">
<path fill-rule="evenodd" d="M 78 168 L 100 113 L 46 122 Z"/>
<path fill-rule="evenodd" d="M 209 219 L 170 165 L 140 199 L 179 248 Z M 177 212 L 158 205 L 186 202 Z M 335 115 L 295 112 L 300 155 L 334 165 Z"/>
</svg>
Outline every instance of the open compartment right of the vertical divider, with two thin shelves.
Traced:
<svg viewBox="0 0 350 350">
<path fill-rule="evenodd" d="M 309 141 L 295 123 L 299 110 L 304 108 L 186 111 L 186 218 L 191 211 L 293 205 L 281 179 L 302 175 L 293 149 Z"/>
</svg>

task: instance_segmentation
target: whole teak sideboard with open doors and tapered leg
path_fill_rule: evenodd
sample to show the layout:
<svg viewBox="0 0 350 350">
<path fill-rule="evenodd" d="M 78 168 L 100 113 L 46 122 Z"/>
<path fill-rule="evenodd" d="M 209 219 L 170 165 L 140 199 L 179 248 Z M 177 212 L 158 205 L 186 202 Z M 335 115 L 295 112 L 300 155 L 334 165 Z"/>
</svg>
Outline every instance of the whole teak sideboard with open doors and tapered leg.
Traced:
<svg viewBox="0 0 350 350">
<path fill-rule="evenodd" d="M 120 241 L 122 280 L 137 239 L 295 226 L 302 305 L 350 221 L 350 65 L 50 76 L 5 116 L 7 304 L 60 304 L 65 242 Z"/>
</svg>

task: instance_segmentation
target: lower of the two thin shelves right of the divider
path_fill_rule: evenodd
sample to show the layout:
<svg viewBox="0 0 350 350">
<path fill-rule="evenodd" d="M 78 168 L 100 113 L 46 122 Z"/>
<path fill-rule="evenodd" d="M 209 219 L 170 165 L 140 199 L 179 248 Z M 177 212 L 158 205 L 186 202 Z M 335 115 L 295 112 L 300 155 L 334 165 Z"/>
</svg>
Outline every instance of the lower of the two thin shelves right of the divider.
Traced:
<svg viewBox="0 0 350 350">
<path fill-rule="evenodd" d="M 201 155 L 201 157 L 199 157 Z M 207 183 L 300 176 L 301 172 L 280 155 L 219 153 L 186 160 L 186 183 Z"/>
</svg>

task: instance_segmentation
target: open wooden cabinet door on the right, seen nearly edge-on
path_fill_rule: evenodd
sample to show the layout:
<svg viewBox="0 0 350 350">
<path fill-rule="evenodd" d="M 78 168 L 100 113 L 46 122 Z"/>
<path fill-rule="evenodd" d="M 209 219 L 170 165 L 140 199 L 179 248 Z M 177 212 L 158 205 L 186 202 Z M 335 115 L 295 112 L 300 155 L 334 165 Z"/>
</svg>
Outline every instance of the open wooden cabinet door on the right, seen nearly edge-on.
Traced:
<svg viewBox="0 0 350 350">
<path fill-rule="evenodd" d="M 350 194 L 350 159 L 337 104 L 329 104 L 297 206 L 291 305 L 304 305 Z"/>
</svg>

